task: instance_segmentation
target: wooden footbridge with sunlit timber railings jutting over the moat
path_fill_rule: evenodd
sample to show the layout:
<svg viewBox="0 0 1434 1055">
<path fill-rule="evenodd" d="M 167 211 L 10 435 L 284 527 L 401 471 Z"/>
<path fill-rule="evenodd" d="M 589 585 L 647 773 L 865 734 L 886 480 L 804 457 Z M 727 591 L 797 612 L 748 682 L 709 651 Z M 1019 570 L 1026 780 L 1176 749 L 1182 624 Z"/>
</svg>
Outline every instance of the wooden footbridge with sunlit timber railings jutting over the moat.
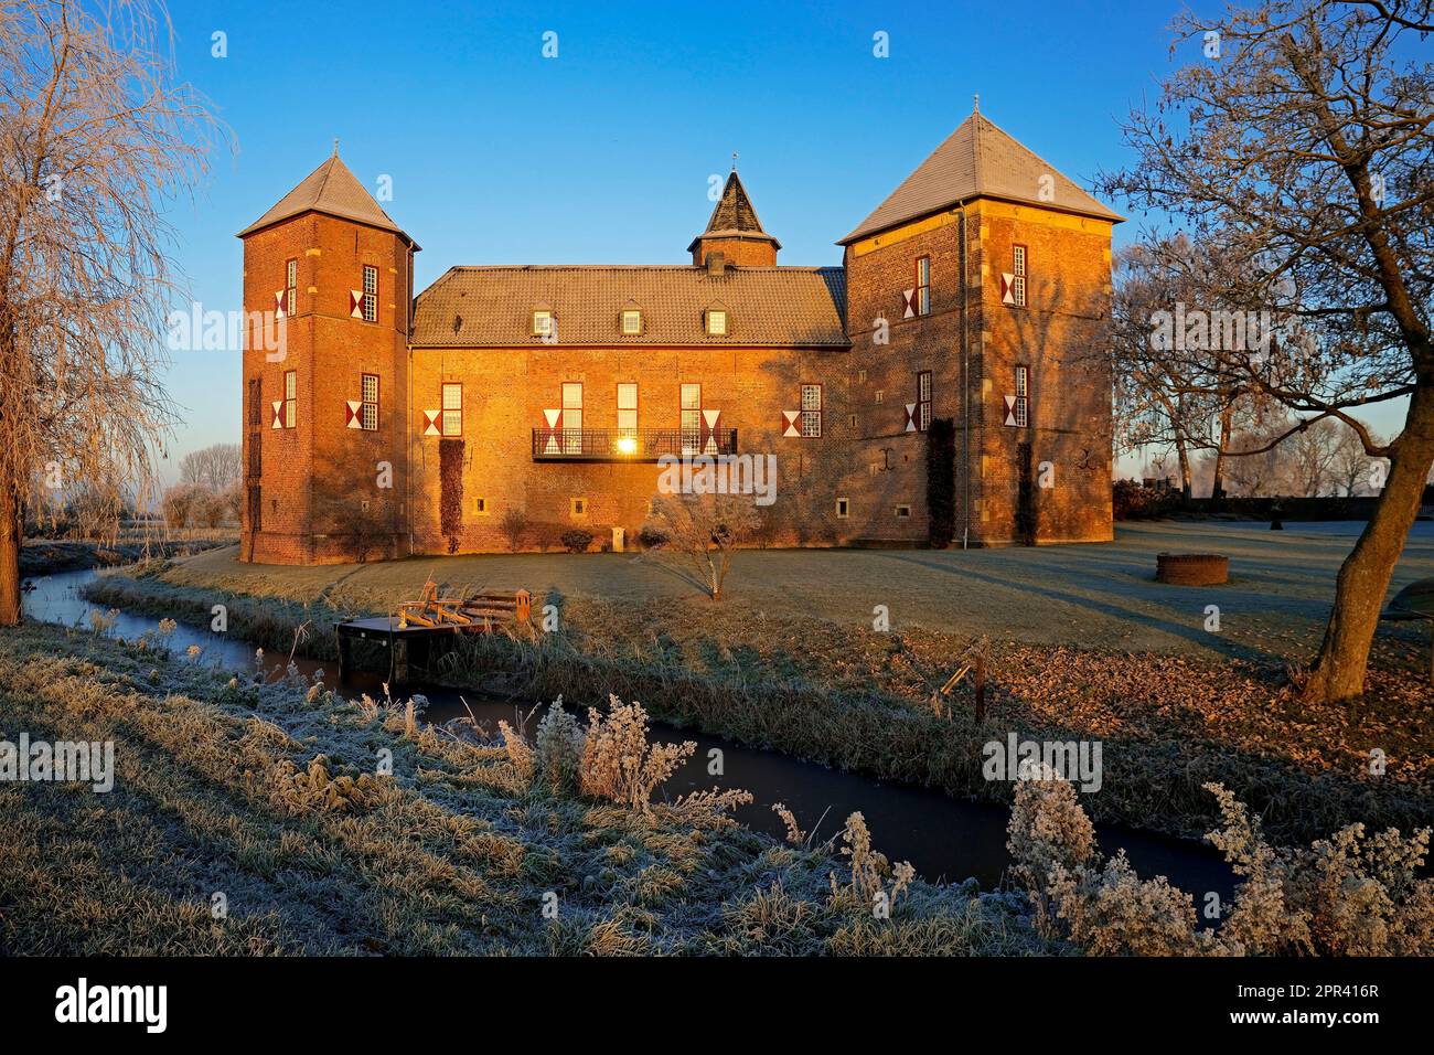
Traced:
<svg viewBox="0 0 1434 1055">
<path fill-rule="evenodd" d="M 391 616 L 354 619 L 334 627 L 338 646 L 338 676 L 356 666 L 356 643 L 367 642 L 381 650 L 376 666 L 387 672 L 390 686 L 412 680 L 416 670 L 427 667 L 435 642 L 442 652 L 456 634 L 502 633 L 518 630 L 532 619 L 532 594 L 526 590 L 480 590 L 459 597 L 439 597 L 432 580 L 423 586 L 423 599 L 404 601 Z"/>
</svg>

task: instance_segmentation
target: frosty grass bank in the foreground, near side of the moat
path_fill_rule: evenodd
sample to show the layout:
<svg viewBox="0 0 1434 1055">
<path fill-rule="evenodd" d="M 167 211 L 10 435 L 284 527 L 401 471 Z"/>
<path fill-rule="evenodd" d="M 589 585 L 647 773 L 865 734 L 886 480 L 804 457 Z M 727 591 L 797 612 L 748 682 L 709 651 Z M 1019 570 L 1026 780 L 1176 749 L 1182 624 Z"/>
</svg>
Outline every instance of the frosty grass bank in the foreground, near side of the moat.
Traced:
<svg viewBox="0 0 1434 1055">
<path fill-rule="evenodd" d="M 0 955 L 1070 949 L 1018 896 L 915 881 L 878 919 L 845 858 L 554 795 L 402 706 L 85 632 L 0 634 L 0 731 L 112 741 L 116 768 L 108 794 L 0 784 Z"/>
</svg>

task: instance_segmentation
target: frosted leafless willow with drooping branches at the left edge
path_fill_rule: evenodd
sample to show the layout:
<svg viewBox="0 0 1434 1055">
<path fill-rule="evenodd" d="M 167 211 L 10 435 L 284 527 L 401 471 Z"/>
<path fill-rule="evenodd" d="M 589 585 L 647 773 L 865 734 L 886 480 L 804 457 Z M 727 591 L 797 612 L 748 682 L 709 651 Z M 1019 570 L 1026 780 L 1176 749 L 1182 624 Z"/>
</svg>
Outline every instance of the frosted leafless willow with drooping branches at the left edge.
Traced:
<svg viewBox="0 0 1434 1055">
<path fill-rule="evenodd" d="M 0 626 L 20 619 L 33 488 L 145 504 L 172 423 L 165 210 L 215 125 L 148 0 L 0 0 Z"/>
</svg>

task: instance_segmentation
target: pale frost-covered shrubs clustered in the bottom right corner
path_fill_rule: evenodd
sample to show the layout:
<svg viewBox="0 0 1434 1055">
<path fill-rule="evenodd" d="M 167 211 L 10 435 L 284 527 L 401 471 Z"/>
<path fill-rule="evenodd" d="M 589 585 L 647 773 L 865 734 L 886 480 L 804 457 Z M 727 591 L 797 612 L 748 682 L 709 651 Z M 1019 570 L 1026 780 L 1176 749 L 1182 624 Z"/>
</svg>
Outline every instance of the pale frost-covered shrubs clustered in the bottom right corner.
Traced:
<svg viewBox="0 0 1434 1055">
<path fill-rule="evenodd" d="M 1434 880 L 1418 870 L 1430 830 L 1405 838 L 1362 824 L 1308 848 L 1265 841 L 1259 818 L 1219 784 L 1223 827 L 1206 838 L 1240 883 L 1217 932 L 1197 932 L 1189 894 L 1140 880 L 1124 854 L 1101 861 L 1064 781 L 1017 785 L 1008 847 L 1038 924 L 1096 955 L 1414 956 L 1434 953 Z"/>
</svg>

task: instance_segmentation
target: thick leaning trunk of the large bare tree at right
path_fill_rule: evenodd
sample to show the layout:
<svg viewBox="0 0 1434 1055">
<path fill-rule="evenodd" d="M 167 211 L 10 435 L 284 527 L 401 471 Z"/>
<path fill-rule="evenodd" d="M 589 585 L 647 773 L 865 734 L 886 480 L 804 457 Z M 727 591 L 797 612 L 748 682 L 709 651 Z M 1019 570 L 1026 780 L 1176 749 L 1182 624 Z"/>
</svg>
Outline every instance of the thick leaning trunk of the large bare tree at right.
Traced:
<svg viewBox="0 0 1434 1055">
<path fill-rule="evenodd" d="M 1339 567 L 1325 640 L 1305 683 L 1309 699 L 1334 702 L 1364 692 L 1384 594 L 1418 515 L 1430 465 L 1434 465 L 1434 389 L 1418 388 L 1410 399 L 1404 433 L 1391 449 L 1384 491 L 1359 541 Z"/>
</svg>

